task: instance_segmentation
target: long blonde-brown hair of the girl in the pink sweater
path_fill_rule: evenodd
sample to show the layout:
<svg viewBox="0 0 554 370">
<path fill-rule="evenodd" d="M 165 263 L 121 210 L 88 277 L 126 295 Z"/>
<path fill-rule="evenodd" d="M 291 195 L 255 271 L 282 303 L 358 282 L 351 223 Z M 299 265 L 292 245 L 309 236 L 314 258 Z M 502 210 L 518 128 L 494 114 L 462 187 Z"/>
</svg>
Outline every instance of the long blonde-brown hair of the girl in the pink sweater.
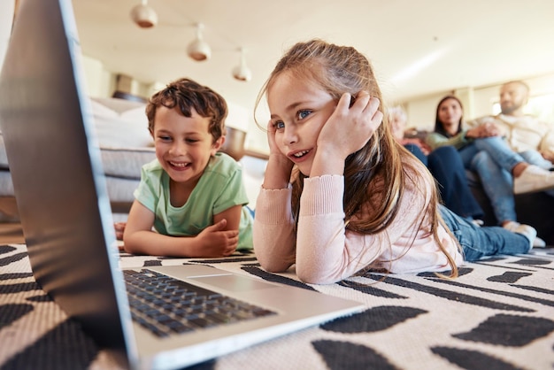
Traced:
<svg viewBox="0 0 554 370">
<path fill-rule="evenodd" d="M 388 114 L 382 104 L 381 89 L 379 89 L 371 64 L 364 55 L 352 47 L 338 46 L 318 39 L 298 42 L 281 58 L 265 81 L 258 94 L 256 107 L 267 90 L 271 88 L 273 81 L 285 71 L 293 73 L 298 79 L 315 81 L 337 102 L 343 93 L 357 96 L 358 92 L 362 90 L 369 92 L 370 96 L 377 97 L 381 101 L 379 109 L 384 114 L 382 124 L 362 149 L 346 158 L 343 197 L 345 223 L 348 229 L 362 234 L 381 232 L 398 216 L 406 181 L 409 181 L 409 176 L 419 172 L 419 167 L 413 166 L 413 160 L 403 160 L 412 154 L 396 143 L 391 133 Z M 261 127 L 261 125 L 258 126 Z M 428 172 L 421 175 L 431 176 Z M 304 177 L 304 174 L 295 170 L 291 178 L 292 209 L 296 220 L 300 195 L 304 187 Z M 373 187 L 372 194 L 369 194 L 368 184 L 376 177 L 382 179 L 382 186 Z M 411 182 L 417 183 L 418 181 Z M 425 190 L 421 189 L 421 191 Z M 379 202 L 374 201 L 376 198 L 379 199 Z M 439 222 L 443 222 L 438 212 L 438 203 L 437 191 L 433 189 L 430 202 L 427 204 L 427 209 L 422 210 L 417 227 L 422 225 L 425 214 L 432 215 L 435 240 L 448 258 L 452 271 L 451 276 L 456 276 L 458 274 L 456 263 L 442 246 L 437 235 Z M 372 204 L 374 207 L 371 212 L 372 216 L 360 218 L 361 214 L 365 214 L 365 212 L 361 212 L 365 204 Z M 355 215 L 358 217 L 354 217 Z M 414 232 L 414 237 L 415 234 Z"/>
</svg>

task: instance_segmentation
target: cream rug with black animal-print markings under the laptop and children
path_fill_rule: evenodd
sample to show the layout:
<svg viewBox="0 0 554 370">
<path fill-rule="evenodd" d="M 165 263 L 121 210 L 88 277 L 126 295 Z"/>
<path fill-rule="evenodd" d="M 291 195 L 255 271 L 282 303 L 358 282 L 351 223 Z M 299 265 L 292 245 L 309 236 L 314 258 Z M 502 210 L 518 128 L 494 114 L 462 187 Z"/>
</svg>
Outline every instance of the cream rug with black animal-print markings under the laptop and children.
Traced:
<svg viewBox="0 0 554 370">
<path fill-rule="evenodd" d="M 268 274 L 253 254 L 155 258 L 121 266 L 199 263 L 363 302 L 364 312 L 193 366 L 195 369 L 552 369 L 554 249 L 467 263 L 455 280 L 367 273 L 308 285 Z M 0 246 L 0 369 L 110 369 L 110 356 L 31 274 L 25 245 Z"/>
</svg>

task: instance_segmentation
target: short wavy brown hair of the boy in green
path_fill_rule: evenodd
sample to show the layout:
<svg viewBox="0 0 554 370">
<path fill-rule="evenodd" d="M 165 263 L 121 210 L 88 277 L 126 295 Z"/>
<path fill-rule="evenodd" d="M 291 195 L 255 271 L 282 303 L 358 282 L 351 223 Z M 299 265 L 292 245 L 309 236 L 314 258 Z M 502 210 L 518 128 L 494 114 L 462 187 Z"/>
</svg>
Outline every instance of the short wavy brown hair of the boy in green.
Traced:
<svg viewBox="0 0 554 370">
<path fill-rule="evenodd" d="M 150 97 L 146 105 L 150 134 L 154 133 L 154 118 L 156 117 L 156 110 L 160 106 L 169 109 L 178 106 L 179 111 L 185 117 L 190 117 L 192 115 L 191 110 L 194 108 L 200 116 L 210 118 L 208 131 L 212 134 L 214 142 L 225 135 L 227 102 L 223 96 L 196 81 L 182 78 L 170 82 L 165 89 Z"/>
</svg>

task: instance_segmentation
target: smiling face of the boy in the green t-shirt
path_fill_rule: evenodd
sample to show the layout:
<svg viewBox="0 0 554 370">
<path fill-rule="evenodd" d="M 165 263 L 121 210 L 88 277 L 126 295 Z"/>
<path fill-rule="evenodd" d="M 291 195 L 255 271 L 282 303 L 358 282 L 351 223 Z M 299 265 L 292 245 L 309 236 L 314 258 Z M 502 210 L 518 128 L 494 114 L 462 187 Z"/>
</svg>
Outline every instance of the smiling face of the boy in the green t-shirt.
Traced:
<svg viewBox="0 0 554 370">
<path fill-rule="evenodd" d="M 213 143 L 208 131 L 210 118 L 200 116 L 194 109 L 189 118 L 178 108 L 160 106 L 154 122 L 152 136 L 159 163 L 172 181 L 194 187 L 225 139 L 220 137 Z"/>
</svg>

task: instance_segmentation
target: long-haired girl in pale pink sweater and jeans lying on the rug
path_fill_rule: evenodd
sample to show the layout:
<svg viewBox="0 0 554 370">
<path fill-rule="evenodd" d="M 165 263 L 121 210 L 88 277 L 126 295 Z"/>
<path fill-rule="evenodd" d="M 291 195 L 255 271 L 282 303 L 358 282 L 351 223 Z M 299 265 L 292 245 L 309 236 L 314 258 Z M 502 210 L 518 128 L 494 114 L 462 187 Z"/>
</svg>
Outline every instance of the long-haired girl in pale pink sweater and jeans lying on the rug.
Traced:
<svg viewBox="0 0 554 370">
<path fill-rule="evenodd" d="M 254 251 L 266 270 L 296 264 L 309 283 L 373 266 L 456 276 L 464 258 L 531 249 L 531 227 L 478 227 L 438 203 L 427 168 L 391 134 L 372 66 L 354 48 L 298 42 L 258 104 L 264 93 L 270 154 Z"/>
</svg>

